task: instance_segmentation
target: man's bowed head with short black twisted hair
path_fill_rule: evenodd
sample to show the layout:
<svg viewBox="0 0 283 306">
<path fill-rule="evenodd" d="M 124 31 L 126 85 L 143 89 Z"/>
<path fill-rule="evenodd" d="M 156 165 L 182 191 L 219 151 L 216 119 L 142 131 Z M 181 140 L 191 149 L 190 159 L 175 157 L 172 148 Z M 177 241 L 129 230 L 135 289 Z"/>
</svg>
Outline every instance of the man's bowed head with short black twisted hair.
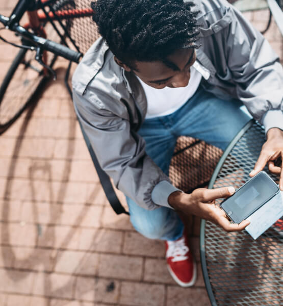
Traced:
<svg viewBox="0 0 283 306">
<path fill-rule="evenodd" d="M 199 12 L 193 6 L 183 0 L 97 0 L 91 4 L 93 20 L 116 62 L 156 88 L 188 84 L 176 79 L 188 75 L 198 47 Z"/>
</svg>

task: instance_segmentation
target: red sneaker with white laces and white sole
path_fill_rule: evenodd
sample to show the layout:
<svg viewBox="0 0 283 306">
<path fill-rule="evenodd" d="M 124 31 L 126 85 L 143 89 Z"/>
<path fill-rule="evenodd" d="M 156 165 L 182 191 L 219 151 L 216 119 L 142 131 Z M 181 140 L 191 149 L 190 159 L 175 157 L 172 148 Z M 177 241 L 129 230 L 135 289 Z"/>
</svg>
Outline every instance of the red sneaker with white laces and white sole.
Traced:
<svg viewBox="0 0 283 306">
<path fill-rule="evenodd" d="M 196 263 L 183 235 L 178 240 L 166 241 L 167 268 L 174 281 L 182 287 L 191 287 L 196 281 Z"/>
</svg>

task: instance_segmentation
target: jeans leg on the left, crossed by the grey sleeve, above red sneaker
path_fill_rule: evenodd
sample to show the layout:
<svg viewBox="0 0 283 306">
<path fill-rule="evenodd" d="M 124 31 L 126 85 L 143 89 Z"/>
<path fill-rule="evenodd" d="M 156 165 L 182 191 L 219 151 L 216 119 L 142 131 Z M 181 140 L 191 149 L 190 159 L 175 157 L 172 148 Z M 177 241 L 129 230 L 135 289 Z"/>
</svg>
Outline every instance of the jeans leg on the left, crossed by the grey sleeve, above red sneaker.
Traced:
<svg viewBox="0 0 283 306">
<path fill-rule="evenodd" d="M 158 118 L 145 120 L 139 134 L 145 139 L 147 155 L 168 174 L 176 137 Z M 182 236 L 183 223 L 174 210 L 160 207 L 148 211 L 128 197 L 127 205 L 133 226 L 143 236 L 163 240 L 176 240 Z"/>
</svg>

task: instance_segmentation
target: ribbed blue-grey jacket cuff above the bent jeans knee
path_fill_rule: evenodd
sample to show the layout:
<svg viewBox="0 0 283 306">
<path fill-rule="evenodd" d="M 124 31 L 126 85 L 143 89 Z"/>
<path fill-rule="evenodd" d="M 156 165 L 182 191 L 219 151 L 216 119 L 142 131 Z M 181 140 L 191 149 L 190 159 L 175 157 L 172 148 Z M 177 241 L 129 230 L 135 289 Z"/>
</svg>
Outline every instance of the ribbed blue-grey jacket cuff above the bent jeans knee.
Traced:
<svg viewBox="0 0 283 306">
<path fill-rule="evenodd" d="M 182 190 L 174 187 L 168 181 L 161 181 L 153 188 L 151 192 L 151 200 L 157 205 L 173 209 L 168 203 L 168 196 L 174 191 Z"/>
</svg>

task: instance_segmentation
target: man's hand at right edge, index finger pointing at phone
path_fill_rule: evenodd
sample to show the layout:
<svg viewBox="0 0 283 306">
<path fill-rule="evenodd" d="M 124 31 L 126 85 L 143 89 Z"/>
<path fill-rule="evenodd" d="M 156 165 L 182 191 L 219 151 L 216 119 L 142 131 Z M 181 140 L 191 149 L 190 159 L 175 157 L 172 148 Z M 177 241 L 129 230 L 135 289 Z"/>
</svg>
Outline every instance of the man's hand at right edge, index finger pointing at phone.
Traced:
<svg viewBox="0 0 283 306">
<path fill-rule="evenodd" d="M 253 170 L 250 172 L 250 176 L 254 176 L 263 170 L 268 163 L 268 169 L 270 172 L 280 176 L 279 188 L 283 190 L 283 166 L 277 167 L 274 165 L 274 161 L 281 157 L 283 161 L 283 131 L 274 127 L 268 130 L 267 140 L 262 147 L 261 154 L 258 161 L 255 163 Z"/>
</svg>

